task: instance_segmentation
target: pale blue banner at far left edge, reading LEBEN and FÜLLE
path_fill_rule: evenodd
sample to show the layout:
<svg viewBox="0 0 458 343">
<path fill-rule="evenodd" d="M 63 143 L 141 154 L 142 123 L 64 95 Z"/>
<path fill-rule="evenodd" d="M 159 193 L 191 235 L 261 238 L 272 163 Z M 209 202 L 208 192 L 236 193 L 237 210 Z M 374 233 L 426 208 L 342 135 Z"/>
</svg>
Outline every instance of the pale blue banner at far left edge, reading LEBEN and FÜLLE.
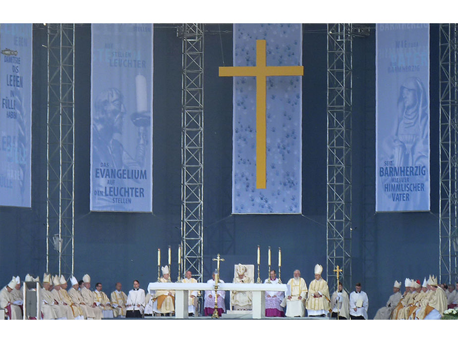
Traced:
<svg viewBox="0 0 458 343">
<path fill-rule="evenodd" d="M 0 205 L 31 207 L 32 24 L 0 24 Z"/>
</svg>

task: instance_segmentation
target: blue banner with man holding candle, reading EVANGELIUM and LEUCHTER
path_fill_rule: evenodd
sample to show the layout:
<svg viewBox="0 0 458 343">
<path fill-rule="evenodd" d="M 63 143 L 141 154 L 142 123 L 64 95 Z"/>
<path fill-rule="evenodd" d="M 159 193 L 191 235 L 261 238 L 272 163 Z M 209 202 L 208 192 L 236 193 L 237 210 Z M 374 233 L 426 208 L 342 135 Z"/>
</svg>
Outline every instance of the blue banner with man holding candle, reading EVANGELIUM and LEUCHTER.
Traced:
<svg viewBox="0 0 458 343">
<path fill-rule="evenodd" d="M 153 209 L 153 24 L 92 24 L 91 211 Z"/>
</svg>

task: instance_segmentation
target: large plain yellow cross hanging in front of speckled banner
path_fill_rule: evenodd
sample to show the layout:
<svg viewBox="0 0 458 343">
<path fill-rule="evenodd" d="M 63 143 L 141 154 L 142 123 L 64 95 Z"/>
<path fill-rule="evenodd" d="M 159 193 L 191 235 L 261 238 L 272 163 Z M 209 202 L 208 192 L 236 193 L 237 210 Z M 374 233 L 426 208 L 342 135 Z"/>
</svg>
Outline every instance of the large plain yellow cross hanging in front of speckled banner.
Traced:
<svg viewBox="0 0 458 343">
<path fill-rule="evenodd" d="M 256 188 L 266 188 L 266 77 L 304 75 L 303 66 L 267 66 L 266 41 L 256 41 L 255 67 L 220 67 L 220 76 L 256 77 Z"/>
</svg>

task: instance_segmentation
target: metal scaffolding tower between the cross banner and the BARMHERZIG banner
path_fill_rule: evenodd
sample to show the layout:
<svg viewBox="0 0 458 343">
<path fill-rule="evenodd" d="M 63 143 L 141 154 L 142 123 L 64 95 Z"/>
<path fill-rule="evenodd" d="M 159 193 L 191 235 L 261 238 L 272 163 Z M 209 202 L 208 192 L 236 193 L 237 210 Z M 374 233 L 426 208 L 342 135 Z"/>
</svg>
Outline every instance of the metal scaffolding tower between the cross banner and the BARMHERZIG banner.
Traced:
<svg viewBox="0 0 458 343">
<path fill-rule="evenodd" d="M 326 273 L 330 290 L 351 287 L 352 24 L 328 24 Z"/>
</svg>

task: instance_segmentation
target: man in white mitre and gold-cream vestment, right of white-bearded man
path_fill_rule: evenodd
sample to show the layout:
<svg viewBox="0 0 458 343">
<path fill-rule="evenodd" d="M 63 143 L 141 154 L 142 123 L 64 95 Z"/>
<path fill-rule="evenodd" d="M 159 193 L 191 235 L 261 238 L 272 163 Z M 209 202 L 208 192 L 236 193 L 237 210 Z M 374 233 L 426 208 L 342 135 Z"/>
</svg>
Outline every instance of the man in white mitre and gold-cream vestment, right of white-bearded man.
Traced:
<svg viewBox="0 0 458 343">
<path fill-rule="evenodd" d="M 315 279 L 309 284 L 305 308 L 309 317 L 326 317 L 329 313 L 329 295 L 328 283 L 323 280 L 321 273 L 323 267 L 320 264 L 315 265 Z"/>
</svg>

